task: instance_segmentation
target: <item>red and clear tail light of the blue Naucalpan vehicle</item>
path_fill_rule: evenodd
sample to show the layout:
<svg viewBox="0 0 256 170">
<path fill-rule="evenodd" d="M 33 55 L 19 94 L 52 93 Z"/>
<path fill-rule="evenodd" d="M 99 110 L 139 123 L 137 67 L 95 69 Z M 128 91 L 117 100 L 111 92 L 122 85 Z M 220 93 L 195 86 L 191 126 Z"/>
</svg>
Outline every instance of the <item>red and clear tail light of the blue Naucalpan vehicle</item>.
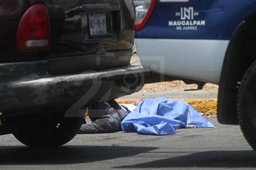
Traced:
<svg viewBox="0 0 256 170">
<path fill-rule="evenodd" d="M 156 5 L 156 0 L 133 0 L 136 9 L 135 30 L 142 30 L 149 21 Z"/>
</svg>

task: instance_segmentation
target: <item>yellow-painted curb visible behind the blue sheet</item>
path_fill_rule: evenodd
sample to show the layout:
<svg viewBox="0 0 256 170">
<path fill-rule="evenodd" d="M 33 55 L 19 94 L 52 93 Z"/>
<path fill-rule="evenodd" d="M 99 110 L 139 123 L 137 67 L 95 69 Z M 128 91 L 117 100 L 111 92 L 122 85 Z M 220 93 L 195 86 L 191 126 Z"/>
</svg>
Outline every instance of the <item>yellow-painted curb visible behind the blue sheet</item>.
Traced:
<svg viewBox="0 0 256 170">
<path fill-rule="evenodd" d="M 116 99 L 119 104 L 133 104 L 138 99 Z M 200 100 L 200 99 L 169 99 L 175 101 L 185 101 L 191 105 L 197 112 L 202 115 L 217 115 L 217 100 Z"/>
</svg>

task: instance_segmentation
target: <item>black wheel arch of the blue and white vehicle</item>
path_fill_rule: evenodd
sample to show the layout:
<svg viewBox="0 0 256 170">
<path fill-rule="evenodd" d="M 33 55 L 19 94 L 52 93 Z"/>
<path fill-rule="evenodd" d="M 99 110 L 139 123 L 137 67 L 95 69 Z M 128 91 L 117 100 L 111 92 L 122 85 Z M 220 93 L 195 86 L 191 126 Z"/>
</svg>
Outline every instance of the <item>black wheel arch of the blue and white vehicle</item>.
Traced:
<svg viewBox="0 0 256 170">
<path fill-rule="evenodd" d="M 238 125 L 237 93 L 247 68 L 256 59 L 256 13 L 243 21 L 234 32 L 221 71 L 218 93 L 218 120 Z"/>
</svg>

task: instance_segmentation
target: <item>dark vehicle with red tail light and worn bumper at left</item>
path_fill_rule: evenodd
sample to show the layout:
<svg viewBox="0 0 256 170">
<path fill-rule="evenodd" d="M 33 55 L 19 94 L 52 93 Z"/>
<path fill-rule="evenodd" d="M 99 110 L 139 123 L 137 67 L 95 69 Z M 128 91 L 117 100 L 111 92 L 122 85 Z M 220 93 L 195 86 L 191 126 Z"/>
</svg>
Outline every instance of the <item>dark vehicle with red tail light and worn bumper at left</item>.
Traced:
<svg viewBox="0 0 256 170">
<path fill-rule="evenodd" d="M 87 104 L 143 86 L 131 0 L 0 0 L 0 30 L 0 134 L 25 145 L 63 145 Z"/>
</svg>

